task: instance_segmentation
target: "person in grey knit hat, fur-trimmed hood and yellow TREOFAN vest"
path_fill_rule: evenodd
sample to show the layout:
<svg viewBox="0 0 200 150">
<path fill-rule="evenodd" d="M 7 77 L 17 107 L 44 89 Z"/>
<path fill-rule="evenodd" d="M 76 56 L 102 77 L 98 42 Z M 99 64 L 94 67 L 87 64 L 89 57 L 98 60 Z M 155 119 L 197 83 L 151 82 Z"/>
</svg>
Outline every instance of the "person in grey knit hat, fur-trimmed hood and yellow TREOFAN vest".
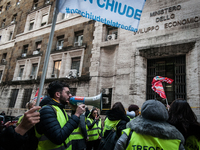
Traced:
<svg viewBox="0 0 200 150">
<path fill-rule="evenodd" d="M 147 100 L 141 115 L 127 123 L 114 150 L 184 150 L 184 137 L 167 122 L 168 117 L 161 102 Z"/>
</svg>

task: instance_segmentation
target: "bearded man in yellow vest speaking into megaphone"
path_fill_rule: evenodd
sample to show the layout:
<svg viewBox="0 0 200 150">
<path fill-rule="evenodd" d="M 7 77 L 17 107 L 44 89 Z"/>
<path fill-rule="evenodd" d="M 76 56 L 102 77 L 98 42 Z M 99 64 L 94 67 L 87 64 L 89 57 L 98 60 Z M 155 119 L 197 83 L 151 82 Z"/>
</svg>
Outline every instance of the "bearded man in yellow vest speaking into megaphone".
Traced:
<svg viewBox="0 0 200 150">
<path fill-rule="evenodd" d="M 61 81 L 53 81 L 48 85 L 48 95 L 41 102 L 40 122 L 36 124 L 36 137 L 39 140 L 38 150 L 71 150 L 70 134 L 78 127 L 79 117 L 85 111 L 85 105 L 72 106 L 69 85 Z M 75 115 L 69 117 L 65 112 L 65 104 L 69 104 Z"/>
</svg>

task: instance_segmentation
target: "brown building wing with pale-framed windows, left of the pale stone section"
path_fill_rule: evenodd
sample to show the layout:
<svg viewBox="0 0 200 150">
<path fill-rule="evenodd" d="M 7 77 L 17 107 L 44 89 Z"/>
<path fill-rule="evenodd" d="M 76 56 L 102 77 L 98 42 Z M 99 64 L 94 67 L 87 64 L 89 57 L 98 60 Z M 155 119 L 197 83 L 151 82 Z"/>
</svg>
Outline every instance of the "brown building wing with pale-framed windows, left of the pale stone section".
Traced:
<svg viewBox="0 0 200 150">
<path fill-rule="evenodd" d="M 0 110 L 7 115 L 23 114 L 39 87 L 54 6 L 54 0 L 0 2 Z M 58 14 L 43 96 L 54 80 L 68 82 L 73 95 L 88 96 L 94 23 Z"/>
</svg>

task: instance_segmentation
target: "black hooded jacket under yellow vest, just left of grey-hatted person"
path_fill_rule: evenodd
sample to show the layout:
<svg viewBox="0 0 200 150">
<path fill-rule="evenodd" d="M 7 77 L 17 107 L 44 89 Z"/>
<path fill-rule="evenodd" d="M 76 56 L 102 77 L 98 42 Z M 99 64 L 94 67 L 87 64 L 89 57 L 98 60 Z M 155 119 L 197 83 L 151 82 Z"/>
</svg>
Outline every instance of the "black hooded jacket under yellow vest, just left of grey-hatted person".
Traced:
<svg viewBox="0 0 200 150">
<path fill-rule="evenodd" d="M 108 119 L 110 121 L 121 120 L 116 126 L 117 136 L 120 137 L 121 131 L 126 129 L 126 124 L 130 121 L 130 119 L 123 112 L 116 110 L 116 109 L 108 110 L 106 115 L 107 115 L 106 117 L 108 117 Z M 109 133 L 109 131 L 105 131 L 104 137 L 106 137 L 108 135 L 108 133 Z"/>
</svg>

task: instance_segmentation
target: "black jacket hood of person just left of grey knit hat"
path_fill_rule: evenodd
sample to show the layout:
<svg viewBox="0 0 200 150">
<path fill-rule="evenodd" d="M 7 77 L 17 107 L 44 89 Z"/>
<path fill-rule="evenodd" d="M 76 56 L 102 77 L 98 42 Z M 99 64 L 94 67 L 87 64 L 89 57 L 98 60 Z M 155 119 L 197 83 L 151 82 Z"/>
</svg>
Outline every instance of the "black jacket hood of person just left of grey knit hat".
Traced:
<svg viewBox="0 0 200 150">
<path fill-rule="evenodd" d="M 126 122 L 128 122 L 130 120 L 123 112 L 116 110 L 116 109 L 108 110 L 106 115 L 107 115 L 108 119 L 111 121 L 125 120 Z"/>
</svg>

